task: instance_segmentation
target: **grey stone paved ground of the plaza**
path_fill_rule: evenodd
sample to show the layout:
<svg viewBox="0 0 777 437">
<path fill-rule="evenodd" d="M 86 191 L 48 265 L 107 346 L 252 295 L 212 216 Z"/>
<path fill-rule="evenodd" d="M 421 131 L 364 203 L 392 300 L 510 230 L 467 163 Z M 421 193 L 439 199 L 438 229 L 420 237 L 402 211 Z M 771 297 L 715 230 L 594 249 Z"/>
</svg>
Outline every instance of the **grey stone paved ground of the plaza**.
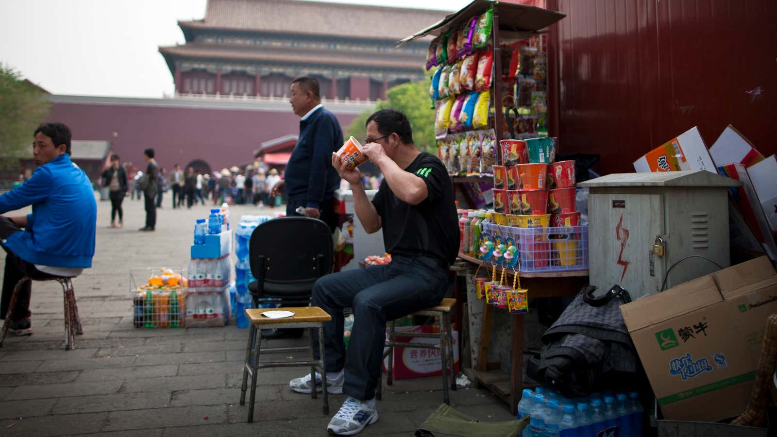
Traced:
<svg viewBox="0 0 777 437">
<path fill-rule="evenodd" d="M 255 421 L 246 423 L 239 397 L 247 330 L 234 319 L 222 328 L 132 326 L 129 267 L 186 263 L 194 220 L 207 214 L 170 202 L 166 196 L 156 232 L 137 230 L 141 201 L 124 201 L 124 229 L 107 228 L 110 205 L 98 202 L 94 264 L 74 281 L 84 327 L 75 351 L 64 350 L 61 288 L 33 285 L 35 334 L 10 334 L 0 348 L 0 435 L 326 435 L 321 398 L 287 386 L 303 368 L 260 372 Z M 233 207 L 232 217 L 259 211 Z M 441 382 L 396 381 L 383 399 L 363 434 L 409 435 L 441 404 Z M 330 397 L 332 414 L 343 400 Z M 513 417 L 486 390 L 451 392 L 451 404 L 483 421 Z"/>
</svg>

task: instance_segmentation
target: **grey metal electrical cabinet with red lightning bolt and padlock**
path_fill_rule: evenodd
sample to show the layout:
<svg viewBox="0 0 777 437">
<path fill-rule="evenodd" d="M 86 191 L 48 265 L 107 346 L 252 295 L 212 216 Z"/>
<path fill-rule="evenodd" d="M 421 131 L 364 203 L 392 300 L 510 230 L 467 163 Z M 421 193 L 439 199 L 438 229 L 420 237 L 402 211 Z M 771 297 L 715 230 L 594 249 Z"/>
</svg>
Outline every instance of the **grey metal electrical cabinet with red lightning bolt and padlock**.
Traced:
<svg viewBox="0 0 777 437">
<path fill-rule="evenodd" d="M 728 187 L 707 171 L 610 174 L 588 187 L 591 284 L 618 284 L 632 299 L 660 292 L 667 269 L 689 255 L 730 265 Z M 664 289 L 717 271 L 699 257 L 674 267 Z"/>
</svg>

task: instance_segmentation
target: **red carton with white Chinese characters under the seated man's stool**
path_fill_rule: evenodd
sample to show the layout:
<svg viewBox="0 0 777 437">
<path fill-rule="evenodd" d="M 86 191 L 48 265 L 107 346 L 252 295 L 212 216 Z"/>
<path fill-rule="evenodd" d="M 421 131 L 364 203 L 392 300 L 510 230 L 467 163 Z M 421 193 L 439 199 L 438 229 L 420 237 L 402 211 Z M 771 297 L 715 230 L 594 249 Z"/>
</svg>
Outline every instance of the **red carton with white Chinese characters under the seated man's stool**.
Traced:
<svg viewBox="0 0 777 437">
<path fill-rule="evenodd" d="M 422 332 L 425 334 L 440 332 L 437 327 L 423 325 L 418 327 L 396 327 L 395 341 L 436 344 L 438 338 L 402 337 L 402 332 Z M 442 374 L 441 351 L 424 348 L 394 348 L 394 379 L 423 378 L 424 376 L 440 376 Z M 458 373 L 458 331 L 453 331 L 453 373 Z M 388 371 L 389 358 L 383 362 L 383 369 Z"/>
</svg>

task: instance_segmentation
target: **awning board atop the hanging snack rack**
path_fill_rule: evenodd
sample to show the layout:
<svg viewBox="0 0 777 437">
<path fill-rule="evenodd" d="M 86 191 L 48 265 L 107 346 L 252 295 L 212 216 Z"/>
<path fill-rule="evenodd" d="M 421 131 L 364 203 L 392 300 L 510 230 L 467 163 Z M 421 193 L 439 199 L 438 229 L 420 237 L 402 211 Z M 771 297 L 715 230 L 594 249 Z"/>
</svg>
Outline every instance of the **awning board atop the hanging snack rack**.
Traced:
<svg viewBox="0 0 777 437">
<path fill-rule="evenodd" d="M 417 38 L 426 37 L 427 35 L 440 35 L 441 33 L 447 32 L 448 29 L 451 28 L 451 25 L 458 26 L 462 23 L 463 19 L 470 19 L 477 14 L 481 14 L 492 5 L 497 6 L 500 32 L 528 33 L 527 37 L 530 36 L 531 33 L 544 29 L 566 16 L 566 14 L 561 12 L 550 11 L 536 6 L 494 2 L 493 0 L 475 0 L 458 12 L 445 16 L 444 19 L 441 19 L 426 29 L 413 33 L 413 35 L 410 35 L 403 40 L 397 41 L 397 45 L 401 46 L 402 44 L 406 44 Z M 521 37 L 518 36 L 514 37 L 514 39 L 520 38 Z"/>
</svg>

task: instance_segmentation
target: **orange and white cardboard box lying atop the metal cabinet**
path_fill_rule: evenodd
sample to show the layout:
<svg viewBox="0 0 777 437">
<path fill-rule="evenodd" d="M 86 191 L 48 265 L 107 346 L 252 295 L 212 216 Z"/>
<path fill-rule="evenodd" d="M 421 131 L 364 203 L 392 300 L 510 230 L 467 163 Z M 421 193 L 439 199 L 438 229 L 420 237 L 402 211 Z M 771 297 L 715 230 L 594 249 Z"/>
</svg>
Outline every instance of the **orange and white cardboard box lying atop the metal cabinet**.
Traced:
<svg viewBox="0 0 777 437">
<path fill-rule="evenodd" d="M 716 173 L 713 159 L 709 156 L 702 135 L 699 135 L 699 129 L 695 127 L 634 161 L 634 170 L 637 173 L 681 170 Z"/>
</svg>

